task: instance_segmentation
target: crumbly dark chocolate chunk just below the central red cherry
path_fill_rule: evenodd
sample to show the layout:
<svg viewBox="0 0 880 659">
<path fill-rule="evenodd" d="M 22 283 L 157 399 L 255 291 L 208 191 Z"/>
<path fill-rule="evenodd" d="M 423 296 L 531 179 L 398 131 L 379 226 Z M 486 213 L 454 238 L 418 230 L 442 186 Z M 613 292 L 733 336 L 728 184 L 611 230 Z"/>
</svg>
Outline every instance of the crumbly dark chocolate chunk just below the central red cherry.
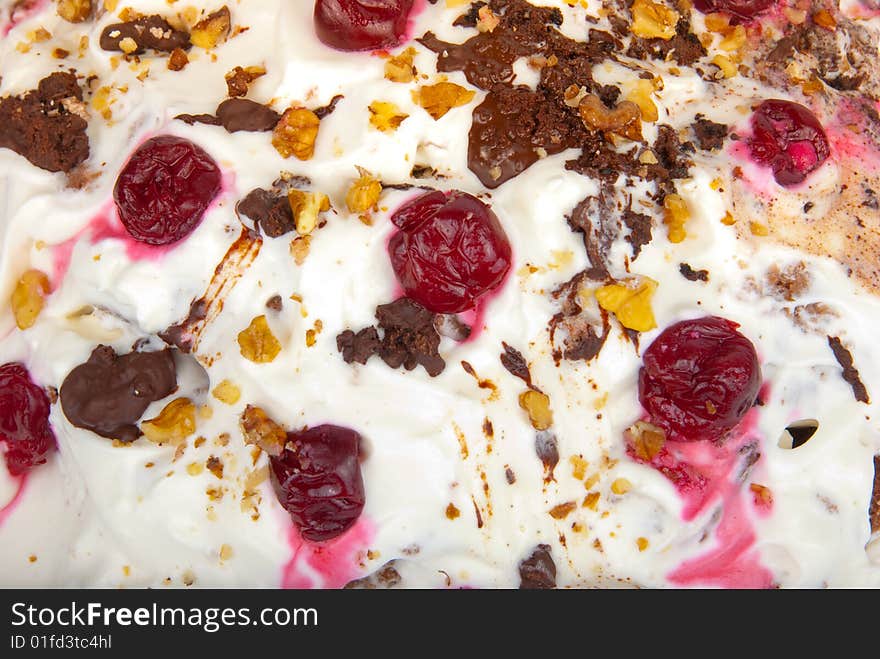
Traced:
<svg viewBox="0 0 880 659">
<path fill-rule="evenodd" d="M 378 329 L 367 327 L 356 334 L 346 330 L 336 337 L 336 348 L 346 363 L 366 364 L 378 355 L 391 368 L 411 371 L 422 366 L 431 377 L 443 372 L 446 362 L 437 351 L 440 335 L 434 326 L 435 314 L 403 297 L 379 306 L 376 318 Z"/>
</svg>

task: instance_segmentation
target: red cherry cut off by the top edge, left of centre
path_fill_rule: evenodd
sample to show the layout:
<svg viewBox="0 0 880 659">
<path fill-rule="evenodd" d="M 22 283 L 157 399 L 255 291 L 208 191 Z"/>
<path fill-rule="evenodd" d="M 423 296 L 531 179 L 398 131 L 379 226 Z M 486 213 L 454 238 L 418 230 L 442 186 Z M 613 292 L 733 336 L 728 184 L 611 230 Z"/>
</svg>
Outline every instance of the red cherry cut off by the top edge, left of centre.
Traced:
<svg viewBox="0 0 880 659">
<path fill-rule="evenodd" d="M 406 34 L 414 0 L 317 0 L 315 32 L 338 50 L 394 48 Z"/>
</svg>

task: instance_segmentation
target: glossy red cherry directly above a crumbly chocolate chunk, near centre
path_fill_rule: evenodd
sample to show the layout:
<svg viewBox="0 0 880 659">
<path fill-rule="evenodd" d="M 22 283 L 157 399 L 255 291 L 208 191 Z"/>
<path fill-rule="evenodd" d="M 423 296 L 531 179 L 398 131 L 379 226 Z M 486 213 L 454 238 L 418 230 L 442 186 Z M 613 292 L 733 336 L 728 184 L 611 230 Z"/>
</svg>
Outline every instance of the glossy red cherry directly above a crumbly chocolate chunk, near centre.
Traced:
<svg viewBox="0 0 880 659">
<path fill-rule="evenodd" d="M 428 192 L 391 221 L 400 229 L 388 243 L 394 274 L 407 296 L 434 313 L 472 308 L 510 270 L 501 222 L 472 195 Z"/>
</svg>

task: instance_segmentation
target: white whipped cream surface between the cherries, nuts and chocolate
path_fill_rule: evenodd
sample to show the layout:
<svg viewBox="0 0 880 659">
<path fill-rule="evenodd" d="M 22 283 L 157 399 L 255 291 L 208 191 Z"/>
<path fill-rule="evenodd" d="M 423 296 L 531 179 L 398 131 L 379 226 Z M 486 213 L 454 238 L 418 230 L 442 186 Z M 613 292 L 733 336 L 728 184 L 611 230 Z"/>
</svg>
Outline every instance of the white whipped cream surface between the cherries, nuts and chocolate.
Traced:
<svg viewBox="0 0 880 659">
<path fill-rule="evenodd" d="M 447 6 L 454 4 L 419 7 L 412 34 L 430 30 L 452 43 L 475 34 L 453 26 L 468 8 Z M 535 4 L 558 7 L 559 29 L 573 39 L 585 39 L 592 27 L 607 29 L 601 3 Z M 557 360 L 549 321 L 560 300 L 552 293 L 590 265 L 583 236 L 566 218 L 600 194 L 600 183 L 566 170 L 576 156 L 567 150 L 488 191 L 468 169 L 471 115 L 485 92 L 461 72 L 444 75 L 475 90 L 474 99 L 435 120 L 414 101 L 413 84 L 385 78 L 386 58 L 323 45 L 311 2 L 229 3 L 233 25 L 247 29 L 210 51 L 193 48 L 181 71 L 169 70 L 164 56 L 126 61 L 103 50 L 99 36 L 118 22 L 118 11 L 71 24 L 54 3 L 15 13 L 12 5 L 3 3 L 8 32 L 0 39 L 0 94 L 23 94 L 70 68 L 95 81 L 86 96 L 85 183 L 71 186 L 64 174 L 0 149 L 0 299 L 10 298 L 27 269 L 47 273 L 52 285 L 26 331 L 16 328 L 10 306 L 0 305 L 0 363 L 22 362 L 36 382 L 58 389 L 99 344 L 120 354 L 137 342 L 163 349 L 158 334 L 187 317 L 230 246 L 244 236 L 256 256 L 224 290 L 222 309 L 206 323 L 193 354 L 176 356 L 178 391 L 144 415 L 155 417 L 174 398 L 194 401 L 197 429 L 183 449 L 99 437 L 74 427 L 54 404 L 58 451 L 23 478 L 0 469 L 0 584 L 336 588 L 393 561 L 407 587 L 516 587 L 520 563 L 547 545 L 563 587 L 880 586 L 880 542 L 872 543 L 868 515 L 873 457 L 880 453 L 880 299 L 846 259 L 834 258 L 857 249 L 842 233 L 827 229 L 820 240 L 839 246 L 821 254 L 775 231 L 748 230 L 750 222 L 770 224 L 771 215 L 783 218 L 773 225 L 781 226 L 807 201 L 820 207 L 819 217 L 837 213 L 838 191 L 853 175 L 851 155 L 833 145 L 832 157 L 790 190 L 739 157 L 735 142 L 693 153 L 687 178 L 676 181 L 690 211 L 680 243 L 668 240 L 649 187 L 627 188 L 621 177 L 616 192 L 654 217 L 653 239 L 633 258 L 630 243 L 618 236 L 609 251 L 611 275 L 659 283 L 652 299 L 657 328 L 634 342 L 612 319 L 595 359 Z M 163 16 L 182 10 L 164 0 L 127 6 Z M 854 20 L 876 37 L 878 19 L 859 16 Z M 702 20 L 694 12 L 695 30 L 704 29 Z M 39 28 L 51 38 L 33 40 Z M 439 80 L 437 55 L 415 41 L 394 52 L 406 46 L 416 49 L 414 65 L 425 76 L 417 83 Z M 53 57 L 55 48 L 70 55 Z M 224 74 L 256 65 L 266 73 L 251 83 L 248 98 L 279 112 L 343 97 L 321 120 L 311 159 L 282 158 L 267 133 L 174 119 L 213 113 L 226 98 Z M 681 131 L 704 115 L 745 132 L 751 105 L 801 99 L 751 77 L 707 81 L 671 62 L 642 61 L 638 69 L 663 78 L 652 95 L 656 123 Z M 528 62 L 518 61 L 514 71 L 516 83 L 534 87 L 538 76 Z M 638 73 L 609 61 L 593 76 L 625 88 Z M 109 104 L 99 106 L 99 96 Z M 368 106 L 376 100 L 408 115 L 394 132 L 371 127 Z M 649 142 L 656 130 L 644 123 Z M 205 149 L 223 172 L 223 188 L 192 235 L 155 250 L 127 236 L 112 194 L 131 153 L 160 134 Z M 877 154 L 877 144 L 864 147 L 856 167 L 876 175 Z M 438 176 L 413 179 L 416 165 Z M 740 178 L 731 174 L 735 166 L 745 172 Z M 369 225 L 345 205 L 358 167 L 386 185 Z M 243 233 L 243 224 L 252 229 L 253 223 L 235 211 L 249 191 L 268 188 L 282 172 L 308 177 L 332 204 L 301 264 L 291 255 L 295 234 Z M 376 307 L 400 295 L 386 249 L 395 230 L 390 216 L 420 192 L 388 187 L 402 183 L 480 196 L 513 251 L 504 285 L 481 314 L 467 318 L 475 323 L 471 338 L 442 339 L 446 368 L 437 377 L 422 368 L 392 370 L 378 358 L 346 364 L 336 345 L 337 335 L 374 324 Z M 731 211 L 733 226 L 722 222 Z M 876 209 L 858 213 L 880 225 Z M 814 231 L 825 231 L 822 226 Z M 683 263 L 708 271 L 708 280 L 684 278 Z M 798 264 L 806 284 L 785 299 L 768 283 L 768 272 Z M 597 318 L 592 295 L 599 285 L 584 282 L 578 293 Z M 276 295 L 282 309 L 268 311 Z M 264 314 L 282 349 L 271 363 L 257 364 L 242 356 L 237 336 Z M 696 500 L 634 460 L 624 438 L 643 418 L 642 352 L 663 328 L 705 315 L 740 325 L 756 347 L 764 386 L 761 404 L 723 445 L 681 447 L 689 463 L 714 476 L 708 494 Z M 841 377 L 829 336 L 853 355 L 870 403 L 856 400 Z M 499 359 L 503 343 L 522 352 L 533 382 L 551 401 L 554 423 L 543 437 L 552 434 L 557 442 L 552 475 L 536 453 L 539 433 L 519 404 L 524 384 Z M 224 380 L 241 391 L 233 405 L 211 394 Z M 246 405 L 288 429 L 332 423 L 363 436 L 366 505 L 348 532 L 322 544 L 299 537 L 265 478 L 267 456 L 242 438 Z M 785 448 L 786 427 L 802 421 L 816 422 L 815 434 Z M 749 469 L 745 449 L 758 456 Z M 202 468 L 211 458 L 222 462 L 221 477 Z M 772 500 L 761 498 L 765 491 Z"/>
</svg>

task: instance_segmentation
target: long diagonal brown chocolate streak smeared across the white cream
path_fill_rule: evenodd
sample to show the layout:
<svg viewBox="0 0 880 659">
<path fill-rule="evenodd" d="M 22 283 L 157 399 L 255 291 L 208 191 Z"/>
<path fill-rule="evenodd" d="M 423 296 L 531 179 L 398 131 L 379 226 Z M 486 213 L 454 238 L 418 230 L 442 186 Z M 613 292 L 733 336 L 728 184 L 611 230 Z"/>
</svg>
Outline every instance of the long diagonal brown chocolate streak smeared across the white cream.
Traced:
<svg viewBox="0 0 880 659">
<path fill-rule="evenodd" d="M 214 276 L 205 294 L 192 303 L 187 317 L 159 334 L 168 345 L 182 352 L 195 352 L 205 327 L 223 310 L 223 301 L 263 247 L 263 239 L 247 227 L 242 227 L 238 239 L 226 251 L 214 270 Z"/>
</svg>

